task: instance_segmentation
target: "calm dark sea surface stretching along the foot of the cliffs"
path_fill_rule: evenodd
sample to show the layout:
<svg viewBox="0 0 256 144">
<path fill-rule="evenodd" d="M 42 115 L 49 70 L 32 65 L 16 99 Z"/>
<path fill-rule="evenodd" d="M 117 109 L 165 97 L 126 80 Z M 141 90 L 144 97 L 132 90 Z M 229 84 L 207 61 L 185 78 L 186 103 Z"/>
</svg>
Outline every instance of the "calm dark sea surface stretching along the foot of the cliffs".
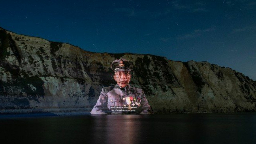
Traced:
<svg viewBox="0 0 256 144">
<path fill-rule="evenodd" d="M 0 116 L 1 143 L 256 143 L 256 113 Z"/>
</svg>

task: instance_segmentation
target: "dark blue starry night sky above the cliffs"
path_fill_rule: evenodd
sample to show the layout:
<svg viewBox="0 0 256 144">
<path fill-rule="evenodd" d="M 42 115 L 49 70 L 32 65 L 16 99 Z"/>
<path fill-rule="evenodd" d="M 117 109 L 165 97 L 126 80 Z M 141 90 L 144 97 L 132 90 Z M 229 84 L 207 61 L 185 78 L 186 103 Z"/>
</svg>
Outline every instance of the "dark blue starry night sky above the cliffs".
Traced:
<svg viewBox="0 0 256 144">
<path fill-rule="evenodd" d="M 208 61 L 256 80 L 256 1 L 2 1 L 0 27 L 91 52 Z"/>
</svg>

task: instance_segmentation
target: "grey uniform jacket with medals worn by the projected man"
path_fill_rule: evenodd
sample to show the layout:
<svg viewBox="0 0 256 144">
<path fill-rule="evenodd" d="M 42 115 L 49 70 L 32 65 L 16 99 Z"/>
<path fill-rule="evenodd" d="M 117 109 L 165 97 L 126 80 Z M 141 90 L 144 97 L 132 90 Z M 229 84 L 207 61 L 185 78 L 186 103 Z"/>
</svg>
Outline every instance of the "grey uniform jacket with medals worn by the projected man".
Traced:
<svg viewBox="0 0 256 144">
<path fill-rule="evenodd" d="M 113 111 L 114 106 L 124 108 L 122 111 Z M 127 111 L 129 110 L 127 107 L 132 108 L 133 111 Z M 124 90 L 121 90 L 116 84 L 102 88 L 91 114 L 153 114 L 153 111 L 142 89 L 127 85 Z"/>
</svg>

